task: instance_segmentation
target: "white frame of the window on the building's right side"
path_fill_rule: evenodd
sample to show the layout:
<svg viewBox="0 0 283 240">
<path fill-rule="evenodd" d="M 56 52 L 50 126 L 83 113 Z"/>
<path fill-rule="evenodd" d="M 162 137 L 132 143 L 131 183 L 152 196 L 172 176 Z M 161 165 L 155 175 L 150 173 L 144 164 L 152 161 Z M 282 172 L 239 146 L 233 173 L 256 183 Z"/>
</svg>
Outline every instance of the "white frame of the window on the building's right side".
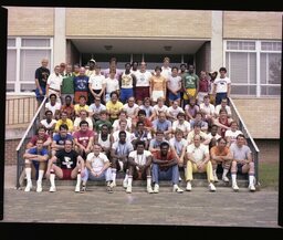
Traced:
<svg viewBox="0 0 283 240">
<path fill-rule="evenodd" d="M 228 50 L 227 45 L 228 42 L 255 42 L 255 50 Z M 279 42 L 281 43 L 281 41 L 276 41 L 276 40 L 223 40 L 223 63 L 226 65 L 226 53 L 228 52 L 244 52 L 244 53 L 255 53 L 256 54 L 256 97 L 271 97 L 271 95 L 262 95 L 261 94 L 261 86 L 268 86 L 268 85 L 272 85 L 272 86 L 281 86 L 281 84 L 261 84 L 261 53 L 282 53 L 282 51 L 277 51 L 277 50 L 261 50 L 261 43 L 262 42 Z M 249 55 L 248 55 L 249 58 Z M 231 61 L 229 60 L 229 64 L 231 63 Z M 228 66 L 228 69 L 230 70 L 230 65 Z M 249 73 L 249 72 L 248 72 Z M 244 85 L 244 84 L 239 84 L 239 83 L 232 83 L 233 85 Z M 249 83 L 247 85 L 250 85 Z M 253 84 L 251 84 L 253 85 Z M 242 96 L 242 95 L 241 95 Z M 249 95 L 247 95 L 249 96 Z M 280 95 L 272 95 L 272 97 L 280 97 Z"/>
</svg>

